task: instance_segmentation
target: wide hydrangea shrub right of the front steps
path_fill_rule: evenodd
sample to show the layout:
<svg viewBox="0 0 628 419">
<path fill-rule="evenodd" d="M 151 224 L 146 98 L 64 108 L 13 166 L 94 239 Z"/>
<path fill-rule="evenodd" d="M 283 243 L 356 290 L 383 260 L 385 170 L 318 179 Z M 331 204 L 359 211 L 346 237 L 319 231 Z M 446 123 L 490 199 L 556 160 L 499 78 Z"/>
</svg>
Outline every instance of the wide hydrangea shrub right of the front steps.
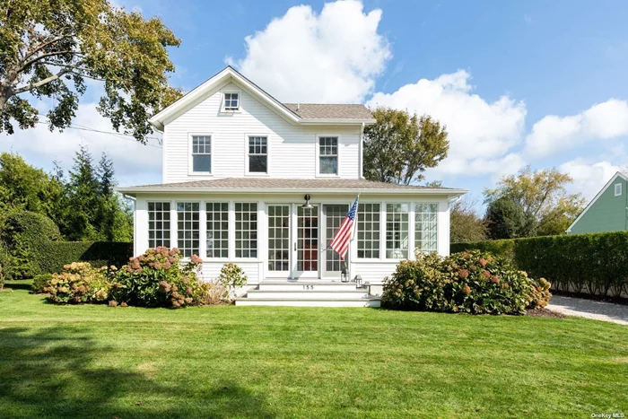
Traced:
<svg viewBox="0 0 628 419">
<path fill-rule="evenodd" d="M 503 259 L 471 251 L 402 261 L 386 278 L 382 304 L 399 310 L 523 314 L 545 307 L 549 297 L 545 280 L 536 284 Z"/>
</svg>

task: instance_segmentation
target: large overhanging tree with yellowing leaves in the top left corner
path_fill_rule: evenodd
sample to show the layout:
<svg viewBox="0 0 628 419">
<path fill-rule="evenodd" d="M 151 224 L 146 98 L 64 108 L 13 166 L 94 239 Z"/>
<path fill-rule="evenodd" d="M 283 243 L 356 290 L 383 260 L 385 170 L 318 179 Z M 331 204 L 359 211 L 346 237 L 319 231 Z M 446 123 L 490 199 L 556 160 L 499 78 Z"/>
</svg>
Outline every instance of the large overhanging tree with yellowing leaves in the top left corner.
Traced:
<svg viewBox="0 0 628 419">
<path fill-rule="evenodd" d="M 160 19 L 108 0 L 0 0 L 0 132 L 34 127 L 42 98 L 54 99 L 49 128 L 69 127 L 92 79 L 104 87 L 100 114 L 145 142 L 148 117 L 180 95 L 168 85 L 173 46 Z"/>
</svg>

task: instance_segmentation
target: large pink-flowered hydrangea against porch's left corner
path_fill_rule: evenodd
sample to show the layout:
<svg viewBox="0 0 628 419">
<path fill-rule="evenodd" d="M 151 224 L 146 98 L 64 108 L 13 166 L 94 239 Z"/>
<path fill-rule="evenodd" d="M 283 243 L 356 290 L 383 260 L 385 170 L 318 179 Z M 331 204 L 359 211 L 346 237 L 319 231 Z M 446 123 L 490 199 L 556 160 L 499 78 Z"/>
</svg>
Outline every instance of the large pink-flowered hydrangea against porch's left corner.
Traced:
<svg viewBox="0 0 628 419">
<path fill-rule="evenodd" d="M 141 307 L 179 309 L 202 304 L 209 288 L 196 277 L 202 263 L 196 255 L 183 262 L 179 249 L 148 249 L 120 268 L 111 298 Z"/>
</svg>

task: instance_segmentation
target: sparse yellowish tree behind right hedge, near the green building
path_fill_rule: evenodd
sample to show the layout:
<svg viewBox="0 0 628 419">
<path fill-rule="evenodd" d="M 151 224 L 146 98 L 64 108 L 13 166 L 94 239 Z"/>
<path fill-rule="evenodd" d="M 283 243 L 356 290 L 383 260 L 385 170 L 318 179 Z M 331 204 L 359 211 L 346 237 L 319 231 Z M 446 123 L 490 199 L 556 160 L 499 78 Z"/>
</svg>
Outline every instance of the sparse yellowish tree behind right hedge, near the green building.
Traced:
<svg viewBox="0 0 628 419">
<path fill-rule="evenodd" d="M 520 223 L 516 232 L 518 237 L 563 234 L 585 204 L 580 194 L 567 193 L 566 187 L 572 181 L 568 174 L 558 170 L 531 170 L 528 166 L 516 175 L 503 177 L 496 188 L 484 190 L 487 217 L 495 209 L 493 203 L 499 202 L 496 209 L 512 214 L 516 223 Z M 491 232 L 496 225 L 489 220 L 489 235 L 492 237 L 507 230 L 500 228 L 500 232 Z"/>
</svg>

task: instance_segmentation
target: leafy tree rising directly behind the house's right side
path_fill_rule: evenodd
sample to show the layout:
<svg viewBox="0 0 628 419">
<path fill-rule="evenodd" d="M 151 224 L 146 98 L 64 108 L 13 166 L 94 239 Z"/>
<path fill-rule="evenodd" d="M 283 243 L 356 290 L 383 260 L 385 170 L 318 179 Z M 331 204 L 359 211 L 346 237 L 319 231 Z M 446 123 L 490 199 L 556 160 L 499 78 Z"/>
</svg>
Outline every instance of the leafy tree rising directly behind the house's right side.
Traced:
<svg viewBox="0 0 628 419">
<path fill-rule="evenodd" d="M 364 129 L 366 179 L 409 185 L 447 157 L 447 131 L 438 121 L 389 108 L 372 114 L 376 123 Z"/>
</svg>

